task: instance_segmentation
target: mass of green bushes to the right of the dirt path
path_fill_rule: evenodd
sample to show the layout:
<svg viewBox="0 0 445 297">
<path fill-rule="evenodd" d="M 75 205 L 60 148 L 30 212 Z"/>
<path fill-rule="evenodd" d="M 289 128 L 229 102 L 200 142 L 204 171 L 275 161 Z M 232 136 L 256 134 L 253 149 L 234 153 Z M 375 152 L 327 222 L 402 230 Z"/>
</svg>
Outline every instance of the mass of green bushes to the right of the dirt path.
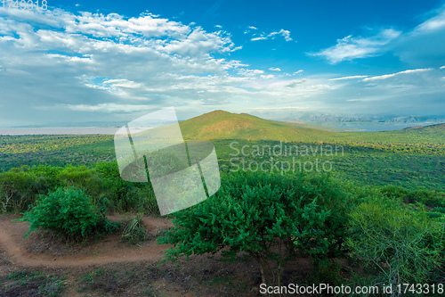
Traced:
<svg viewBox="0 0 445 297">
<path fill-rule="evenodd" d="M 315 283 L 441 283 L 444 205 L 441 192 L 360 188 L 326 176 L 236 174 L 213 198 L 175 214 L 175 227 L 159 243 L 174 244 L 168 260 L 219 251 L 231 261 L 255 259 L 263 283 L 278 286 L 297 255 L 312 259 Z M 341 276 L 339 259 L 366 272 Z"/>
</svg>

